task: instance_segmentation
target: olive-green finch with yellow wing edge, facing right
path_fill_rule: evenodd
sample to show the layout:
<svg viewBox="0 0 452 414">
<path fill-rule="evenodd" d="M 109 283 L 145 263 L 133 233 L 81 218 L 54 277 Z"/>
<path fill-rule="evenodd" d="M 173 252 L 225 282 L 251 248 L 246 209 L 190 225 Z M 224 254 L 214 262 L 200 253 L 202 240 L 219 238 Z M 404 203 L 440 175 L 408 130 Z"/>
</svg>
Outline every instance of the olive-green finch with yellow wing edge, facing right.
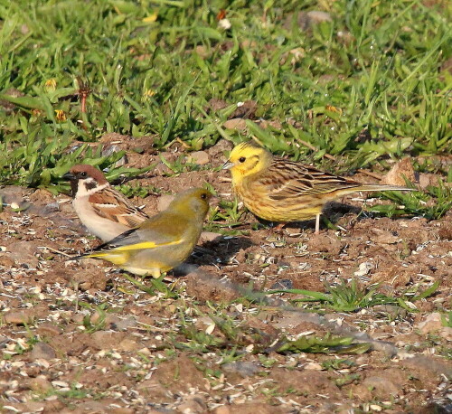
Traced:
<svg viewBox="0 0 452 414">
<path fill-rule="evenodd" d="M 136 275 L 160 278 L 192 253 L 211 197 L 212 193 L 202 188 L 179 193 L 164 212 L 81 258 L 108 260 Z"/>
</svg>

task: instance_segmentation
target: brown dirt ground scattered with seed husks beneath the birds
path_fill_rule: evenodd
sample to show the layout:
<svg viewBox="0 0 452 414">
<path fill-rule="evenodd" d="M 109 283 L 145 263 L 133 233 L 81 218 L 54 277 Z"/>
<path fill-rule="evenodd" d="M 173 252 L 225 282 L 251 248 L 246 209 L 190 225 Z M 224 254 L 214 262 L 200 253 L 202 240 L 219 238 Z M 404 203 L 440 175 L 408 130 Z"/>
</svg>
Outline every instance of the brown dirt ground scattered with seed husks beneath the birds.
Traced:
<svg viewBox="0 0 452 414">
<path fill-rule="evenodd" d="M 126 138 L 119 141 L 127 165 L 158 163 L 131 184 L 165 194 L 206 181 L 232 199 L 229 174 L 212 171 L 225 161 L 229 143 L 197 155 L 207 162 L 199 171 L 166 176 L 152 148 L 138 154 Z M 165 158 L 173 162 L 181 151 L 172 147 Z M 355 194 L 329 208 L 338 229 L 317 236 L 312 222 L 282 232 L 265 225 L 251 230 L 257 221 L 247 214 L 239 236 L 204 235 L 208 250 L 189 259 L 194 266 L 177 278 L 172 298 L 137 289 L 105 262 L 69 260 L 99 240 L 82 229 L 68 196 L 20 187 L 0 195 L 7 204 L 30 204 L 0 213 L 2 412 L 452 412 L 452 328 L 441 321 L 450 310 L 451 212 L 438 221 L 358 218 L 363 201 Z M 146 197 L 146 212 L 156 212 L 159 197 Z M 325 283 L 351 278 L 363 287 L 379 283 L 387 296 L 436 281 L 439 287 L 414 302 L 412 312 L 373 306 L 325 314 L 313 311 L 314 304 L 289 306 L 296 296 L 240 299 L 270 288 L 324 292 Z M 235 348 L 222 341 L 221 321 L 228 318 L 241 335 Z M 271 348 L 284 335 L 328 332 L 367 338 L 372 349 L 281 354 Z"/>
</svg>

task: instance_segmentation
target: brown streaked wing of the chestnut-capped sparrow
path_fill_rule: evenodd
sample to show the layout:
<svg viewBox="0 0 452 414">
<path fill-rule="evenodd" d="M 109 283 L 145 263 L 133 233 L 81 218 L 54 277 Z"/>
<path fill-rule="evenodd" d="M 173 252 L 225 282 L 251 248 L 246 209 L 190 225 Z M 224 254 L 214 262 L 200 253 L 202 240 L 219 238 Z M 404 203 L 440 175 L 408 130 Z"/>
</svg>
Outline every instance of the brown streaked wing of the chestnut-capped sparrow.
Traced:
<svg viewBox="0 0 452 414">
<path fill-rule="evenodd" d="M 137 209 L 123 194 L 112 187 L 90 194 L 89 203 L 100 217 L 117 221 L 127 227 L 137 227 L 148 219 L 145 212 Z"/>
</svg>

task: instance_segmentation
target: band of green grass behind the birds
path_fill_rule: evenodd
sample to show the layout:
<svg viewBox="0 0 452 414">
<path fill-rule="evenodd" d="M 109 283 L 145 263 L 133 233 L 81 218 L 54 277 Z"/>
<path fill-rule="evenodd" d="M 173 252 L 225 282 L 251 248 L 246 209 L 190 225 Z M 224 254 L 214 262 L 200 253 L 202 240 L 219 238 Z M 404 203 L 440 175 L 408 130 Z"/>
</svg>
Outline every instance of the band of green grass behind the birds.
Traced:
<svg viewBox="0 0 452 414">
<path fill-rule="evenodd" d="M 221 8 L 230 30 L 218 25 Z M 319 9 L 333 20 L 309 30 L 292 14 Z M 263 5 L 243 0 L 1 5 L 0 98 L 14 105 L 0 109 L 0 182 L 50 186 L 80 158 L 111 165 L 115 156 L 66 151 L 105 132 L 155 134 L 157 148 L 179 138 L 191 149 L 254 135 L 296 159 L 340 155 L 347 168 L 446 154 L 450 15 L 447 2 L 421 1 L 282 1 L 265 18 Z M 229 107 L 209 110 L 212 98 Z M 281 127 L 224 129 L 249 99 L 257 118 Z M 368 138 L 357 140 L 363 129 Z"/>
</svg>

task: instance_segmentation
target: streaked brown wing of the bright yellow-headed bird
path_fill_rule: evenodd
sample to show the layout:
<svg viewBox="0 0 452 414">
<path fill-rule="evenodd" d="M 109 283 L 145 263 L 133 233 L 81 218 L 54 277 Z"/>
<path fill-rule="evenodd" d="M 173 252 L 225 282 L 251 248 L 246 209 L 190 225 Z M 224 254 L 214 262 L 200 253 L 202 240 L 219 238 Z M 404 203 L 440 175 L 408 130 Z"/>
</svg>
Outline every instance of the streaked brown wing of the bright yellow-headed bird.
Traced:
<svg viewBox="0 0 452 414">
<path fill-rule="evenodd" d="M 266 186 L 268 196 L 273 200 L 332 193 L 360 185 L 353 180 L 325 173 L 309 165 L 281 159 L 275 159 L 256 184 Z"/>
</svg>

